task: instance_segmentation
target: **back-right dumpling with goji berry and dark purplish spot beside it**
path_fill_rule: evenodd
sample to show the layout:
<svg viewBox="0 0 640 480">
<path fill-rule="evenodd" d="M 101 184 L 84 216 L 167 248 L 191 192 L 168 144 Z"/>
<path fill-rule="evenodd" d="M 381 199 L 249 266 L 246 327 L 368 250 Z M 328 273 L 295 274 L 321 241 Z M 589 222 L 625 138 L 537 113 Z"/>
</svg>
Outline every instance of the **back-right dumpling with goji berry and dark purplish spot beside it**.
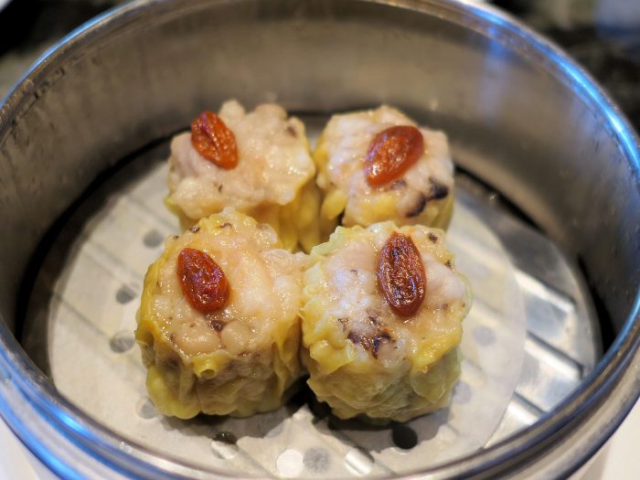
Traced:
<svg viewBox="0 0 640 480">
<path fill-rule="evenodd" d="M 314 153 L 325 234 L 393 220 L 445 229 L 453 208 L 446 135 L 389 106 L 334 115 Z M 341 222 L 340 222 L 341 220 Z"/>
</svg>

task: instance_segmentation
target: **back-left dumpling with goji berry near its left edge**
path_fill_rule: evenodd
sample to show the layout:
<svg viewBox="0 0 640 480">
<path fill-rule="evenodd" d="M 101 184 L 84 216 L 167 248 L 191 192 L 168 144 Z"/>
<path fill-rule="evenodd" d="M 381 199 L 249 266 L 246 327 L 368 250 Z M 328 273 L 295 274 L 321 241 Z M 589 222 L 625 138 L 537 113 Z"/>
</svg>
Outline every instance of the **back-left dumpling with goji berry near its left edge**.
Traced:
<svg viewBox="0 0 640 480">
<path fill-rule="evenodd" d="M 166 202 L 185 228 L 233 207 L 269 223 L 285 248 L 309 250 L 318 241 L 314 176 L 304 123 L 276 104 L 246 112 L 227 101 L 172 140 Z"/>
</svg>

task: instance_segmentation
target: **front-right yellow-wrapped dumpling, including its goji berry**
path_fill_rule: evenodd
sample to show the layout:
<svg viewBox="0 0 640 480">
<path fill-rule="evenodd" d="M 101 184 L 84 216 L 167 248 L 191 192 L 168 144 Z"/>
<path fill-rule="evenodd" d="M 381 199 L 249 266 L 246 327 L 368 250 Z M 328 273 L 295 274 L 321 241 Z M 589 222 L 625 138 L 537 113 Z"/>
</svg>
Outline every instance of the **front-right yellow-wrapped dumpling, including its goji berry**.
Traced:
<svg viewBox="0 0 640 480">
<path fill-rule="evenodd" d="M 308 384 L 340 418 L 407 421 L 442 408 L 470 307 L 443 230 L 341 228 L 304 274 Z"/>
</svg>

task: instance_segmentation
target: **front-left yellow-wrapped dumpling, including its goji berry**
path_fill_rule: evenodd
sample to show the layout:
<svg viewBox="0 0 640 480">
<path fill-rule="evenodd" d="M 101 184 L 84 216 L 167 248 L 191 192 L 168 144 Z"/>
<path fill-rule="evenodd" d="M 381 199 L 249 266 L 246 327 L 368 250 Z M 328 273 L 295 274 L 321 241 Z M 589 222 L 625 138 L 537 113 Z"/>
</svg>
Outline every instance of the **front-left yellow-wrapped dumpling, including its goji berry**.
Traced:
<svg viewBox="0 0 640 480">
<path fill-rule="evenodd" d="M 149 267 L 136 339 L 166 415 L 246 416 L 282 405 L 298 359 L 304 253 L 232 209 L 165 241 Z"/>
</svg>

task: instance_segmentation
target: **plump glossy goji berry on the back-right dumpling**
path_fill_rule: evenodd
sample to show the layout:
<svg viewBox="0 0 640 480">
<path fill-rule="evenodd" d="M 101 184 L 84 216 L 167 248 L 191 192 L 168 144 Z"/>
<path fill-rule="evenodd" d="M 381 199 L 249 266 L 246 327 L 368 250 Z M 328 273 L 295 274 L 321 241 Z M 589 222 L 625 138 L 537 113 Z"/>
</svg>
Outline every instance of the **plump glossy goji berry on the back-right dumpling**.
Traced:
<svg viewBox="0 0 640 480">
<path fill-rule="evenodd" d="M 422 133 L 411 125 L 397 125 L 378 133 L 368 145 L 365 173 L 371 187 L 397 179 L 424 153 Z"/>
</svg>

